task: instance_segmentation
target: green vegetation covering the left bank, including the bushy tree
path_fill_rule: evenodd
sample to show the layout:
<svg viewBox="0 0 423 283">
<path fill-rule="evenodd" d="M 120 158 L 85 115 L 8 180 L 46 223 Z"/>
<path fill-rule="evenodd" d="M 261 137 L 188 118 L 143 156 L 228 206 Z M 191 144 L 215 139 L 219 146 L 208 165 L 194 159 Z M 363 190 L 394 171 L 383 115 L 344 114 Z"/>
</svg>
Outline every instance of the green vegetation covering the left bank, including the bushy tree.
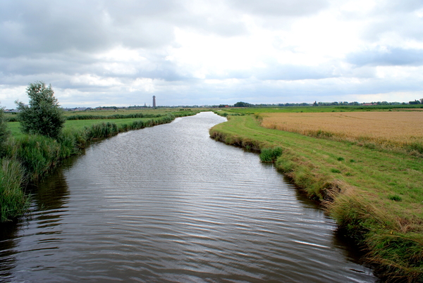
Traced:
<svg viewBox="0 0 423 283">
<path fill-rule="evenodd" d="M 43 177 L 64 158 L 80 153 L 92 140 L 198 113 L 190 109 L 152 109 L 119 115 L 106 111 L 65 115 L 59 109 L 51 87 L 37 82 L 30 84 L 27 92 L 30 98 L 30 94 L 33 95 L 31 109 L 49 119 L 37 119 L 36 113 L 25 113 L 25 109 L 22 113 L 27 119 L 25 115 L 6 116 L 0 111 L 0 222 L 16 220 L 27 212 L 30 205 L 30 196 L 24 191 L 27 182 Z M 25 106 L 22 104 L 22 107 Z M 30 123 L 25 125 L 25 121 Z M 54 129 L 51 125 L 55 125 Z"/>
</svg>

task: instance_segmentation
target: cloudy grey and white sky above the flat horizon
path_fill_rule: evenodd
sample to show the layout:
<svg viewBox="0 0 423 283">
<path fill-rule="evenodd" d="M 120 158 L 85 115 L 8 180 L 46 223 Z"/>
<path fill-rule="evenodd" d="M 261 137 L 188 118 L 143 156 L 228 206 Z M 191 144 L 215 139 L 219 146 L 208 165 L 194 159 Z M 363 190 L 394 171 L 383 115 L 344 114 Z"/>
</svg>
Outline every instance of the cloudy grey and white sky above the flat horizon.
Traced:
<svg viewBox="0 0 423 283">
<path fill-rule="evenodd" d="M 0 106 L 423 98 L 422 0 L 1 0 Z"/>
</svg>

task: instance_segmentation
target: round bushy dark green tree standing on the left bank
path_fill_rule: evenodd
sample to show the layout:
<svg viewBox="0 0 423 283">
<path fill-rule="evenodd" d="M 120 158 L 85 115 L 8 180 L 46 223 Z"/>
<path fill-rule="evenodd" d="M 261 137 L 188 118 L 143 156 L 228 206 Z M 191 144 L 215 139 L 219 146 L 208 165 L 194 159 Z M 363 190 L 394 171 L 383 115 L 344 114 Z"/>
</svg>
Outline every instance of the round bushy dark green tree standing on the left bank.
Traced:
<svg viewBox="0 0 423 283">
<path fill-rule="evenodd" d="M 46 87 L 44 82 L 35 82 L 27 87 L 30 105 L 15 101 L 18 105 L 18 120 L 20 129 L 26 134 L 42 134 L 56 139 L 66 121 L 59 102 L 54 97 L 51 84 Z"/>
</svg>

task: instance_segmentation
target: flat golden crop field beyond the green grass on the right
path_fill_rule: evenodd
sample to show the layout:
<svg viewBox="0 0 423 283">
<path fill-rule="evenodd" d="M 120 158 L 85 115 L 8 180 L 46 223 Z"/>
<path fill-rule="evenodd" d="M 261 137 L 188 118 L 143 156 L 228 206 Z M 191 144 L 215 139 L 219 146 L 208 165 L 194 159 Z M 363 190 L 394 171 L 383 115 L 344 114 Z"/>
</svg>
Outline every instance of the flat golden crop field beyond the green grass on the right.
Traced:
<svg viewBox="0 0 423 283">
<path fill-rule="evenodd" d="M 371 142 L 387 148 L 423 149 L 422 112 L 263 113 L 261 116 L 262 126 L 269 129 Z"/>
</svg>

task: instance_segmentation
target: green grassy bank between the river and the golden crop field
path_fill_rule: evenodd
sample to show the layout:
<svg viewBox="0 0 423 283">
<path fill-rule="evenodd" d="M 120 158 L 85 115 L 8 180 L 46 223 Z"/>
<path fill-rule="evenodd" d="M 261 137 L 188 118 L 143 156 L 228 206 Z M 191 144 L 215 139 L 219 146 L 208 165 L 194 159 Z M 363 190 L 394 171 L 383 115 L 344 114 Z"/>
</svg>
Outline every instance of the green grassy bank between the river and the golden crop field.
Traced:
<svg viewBox="0 0 423 283">
<path fill-rule="evenodd" d="M 267 129 L 254 115 L 231 116 L 210 134 L 247 149 L 281 147 L 277 168 L 324 203 L 340 229 L 367 249 L 377 272 L 422 282 L 422 158 Z"/>
</svg>

